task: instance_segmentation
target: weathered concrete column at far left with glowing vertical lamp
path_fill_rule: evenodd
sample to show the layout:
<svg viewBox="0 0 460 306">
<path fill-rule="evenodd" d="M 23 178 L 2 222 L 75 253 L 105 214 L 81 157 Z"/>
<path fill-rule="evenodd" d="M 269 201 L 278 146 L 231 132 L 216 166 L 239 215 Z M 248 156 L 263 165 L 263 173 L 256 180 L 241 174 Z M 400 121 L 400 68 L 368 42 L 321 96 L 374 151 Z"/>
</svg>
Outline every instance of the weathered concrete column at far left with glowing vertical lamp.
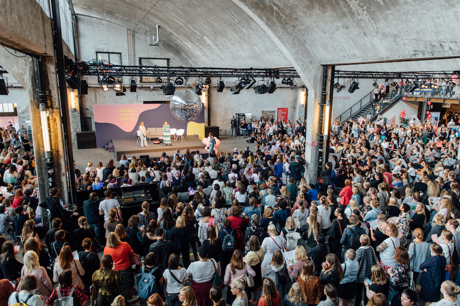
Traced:
<svg viewBox="0 0 460 306">
<path fill-rule="evenodd" d="M 53 58 L 43 58 L 43 74 L 45 90 L 49 101 L 51 147 L 54 159 L 54 178 L 56 187 L 61 190 L 62 200 L 67 202 L 67 180 L 65 174 L 64 150 L 62 145 L 62 127 L 59 111 L 59 99 L 56 86 L 56 71 Z M 43 154 L 43 139 L 41 133 L 40 112 L 38 109 L 38 71 L 35 59 L 29 56 L 17 58 L 0 48 L 0 65 L 4 67 L 26 90 L 29 98 L 30 119 L 35 155 L 35 165 L 38 176 L 40 200 L 48 197 L 48 173 Z"/>
</svg>

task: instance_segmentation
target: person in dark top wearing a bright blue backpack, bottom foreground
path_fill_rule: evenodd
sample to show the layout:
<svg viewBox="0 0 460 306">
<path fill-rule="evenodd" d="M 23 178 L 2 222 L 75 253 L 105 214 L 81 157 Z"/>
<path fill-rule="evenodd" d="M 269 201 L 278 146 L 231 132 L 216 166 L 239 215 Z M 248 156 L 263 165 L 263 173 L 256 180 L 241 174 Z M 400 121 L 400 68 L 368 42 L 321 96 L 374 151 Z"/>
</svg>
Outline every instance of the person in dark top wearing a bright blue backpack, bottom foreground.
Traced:
<svg viewBox="0 0 460 306">
<path fill-rule="evenodd" d="M 141 272 L 134 277 L 137 296 L 139 296 L 141 305 L 146 304 L 147 299 L 154 293 L 158 293 L 165 300 L 163 273 L 160 268 L 155 266 L 157 266 L 155 253 L 150 252 L 144 258 L 144 266 L 142 266 Z"/>
</svg>

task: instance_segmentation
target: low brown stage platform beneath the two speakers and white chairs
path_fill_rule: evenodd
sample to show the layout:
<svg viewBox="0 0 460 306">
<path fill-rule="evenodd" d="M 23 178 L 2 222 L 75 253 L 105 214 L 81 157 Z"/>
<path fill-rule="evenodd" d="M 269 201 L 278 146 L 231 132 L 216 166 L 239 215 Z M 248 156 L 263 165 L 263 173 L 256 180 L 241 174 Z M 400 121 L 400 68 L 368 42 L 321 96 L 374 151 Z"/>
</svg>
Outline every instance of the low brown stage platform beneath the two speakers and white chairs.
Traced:
<svg viewBox="0 0 460 306">
<path fill-rule="evenodd" d="M 196 150 L 200 151 L 200 154 L 208 153 L 204 150 L 204 145 L 201 140 L 195 136 L 183 136 L 184 141 L 171 139 L 171 146 L 165 146 L 163 142 L 154 144 L 152 140 L 147 139 L 150 147 L 141 147 L 141 142 L 136 143 L 136 139 L 113 139 L 113 149 L 115 158 L 119 161 L 123 154 L 130 159 L 133 155 L 139 159 L 141 156 L 148 155 L 150 158 L 161 157 L 163 152 L 166 152 L 168 156 L 173 156 L 176 149 L 180 149 L 180 153 L 183 154 L 188 148 L 193 152 Z"/>
</svg>

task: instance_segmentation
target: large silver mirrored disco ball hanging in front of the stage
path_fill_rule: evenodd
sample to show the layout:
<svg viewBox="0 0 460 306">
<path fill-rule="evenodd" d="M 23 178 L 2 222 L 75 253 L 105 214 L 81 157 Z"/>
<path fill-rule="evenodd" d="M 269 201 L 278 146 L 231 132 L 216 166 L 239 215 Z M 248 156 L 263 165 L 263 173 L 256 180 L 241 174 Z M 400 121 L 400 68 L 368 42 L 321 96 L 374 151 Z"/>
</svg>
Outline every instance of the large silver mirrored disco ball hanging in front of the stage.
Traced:
<svg viewBox="0 0 460 306">
<path fill-rule="evenodd" d="M 172 96 L 169 107 L 174 117 L 180 121 L 191 121 L 201 113 L 203 103 L 195 92 L 182 89 Z"/>
</svg>

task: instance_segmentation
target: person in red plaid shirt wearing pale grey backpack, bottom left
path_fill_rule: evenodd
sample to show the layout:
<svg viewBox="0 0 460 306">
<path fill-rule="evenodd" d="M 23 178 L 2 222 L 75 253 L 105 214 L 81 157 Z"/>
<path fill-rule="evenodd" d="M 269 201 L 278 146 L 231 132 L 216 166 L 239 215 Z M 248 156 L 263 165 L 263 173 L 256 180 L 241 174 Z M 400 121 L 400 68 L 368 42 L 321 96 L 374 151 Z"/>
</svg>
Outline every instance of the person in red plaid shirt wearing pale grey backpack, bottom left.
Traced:
<svg viewBox="0 0 460 306">
<path fill-rule="evenodd" d="M 80 301 L 80 306 L 85 306 L 88 296 L 78 285 L 73 283 L 72 270 L 67 269 L 59 275 L 59 287 L 55 288 L 47 299 L 47 305 L 74 306 L 74 299 Z"/>
</svg>

